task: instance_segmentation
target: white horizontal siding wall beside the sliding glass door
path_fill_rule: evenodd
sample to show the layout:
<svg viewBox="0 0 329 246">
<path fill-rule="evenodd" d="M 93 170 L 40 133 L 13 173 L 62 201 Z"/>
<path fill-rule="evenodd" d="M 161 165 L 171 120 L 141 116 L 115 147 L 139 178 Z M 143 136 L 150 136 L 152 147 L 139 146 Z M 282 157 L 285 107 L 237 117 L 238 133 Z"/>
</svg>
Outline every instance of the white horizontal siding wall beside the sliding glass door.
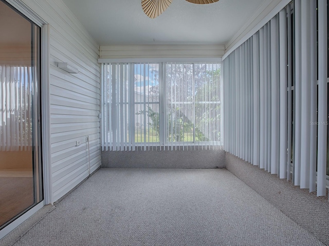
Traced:
<svg viewBox="0 0 329 246">
<path fill-rule="evenodd" d="M 50 168 L 54 202 L 89 175 L 89 159 L 90 172 L 101 165 L 99 46 L 61 0 L 22 2 L 50 25 Z M 57 68 L 58 62 L 77 67 L 79 73 Z M 76 146 L 76 141 L 81 145 Z"/>
</svg>

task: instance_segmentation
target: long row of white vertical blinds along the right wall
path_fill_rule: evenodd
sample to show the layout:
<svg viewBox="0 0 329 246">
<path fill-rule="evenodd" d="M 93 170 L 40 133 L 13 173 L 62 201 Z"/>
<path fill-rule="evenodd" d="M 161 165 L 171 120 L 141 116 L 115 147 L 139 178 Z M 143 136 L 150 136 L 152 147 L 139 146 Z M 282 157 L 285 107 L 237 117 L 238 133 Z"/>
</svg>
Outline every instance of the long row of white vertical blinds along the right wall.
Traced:
<svg viewBox="0 0 329 246">
<path fill-rule="evenodd" d="M 325 195 L 327 1 L 294 1 L 222 62 L 231 153 L 288 180 L 293 153 L 294 185 Z"/>
</svg>

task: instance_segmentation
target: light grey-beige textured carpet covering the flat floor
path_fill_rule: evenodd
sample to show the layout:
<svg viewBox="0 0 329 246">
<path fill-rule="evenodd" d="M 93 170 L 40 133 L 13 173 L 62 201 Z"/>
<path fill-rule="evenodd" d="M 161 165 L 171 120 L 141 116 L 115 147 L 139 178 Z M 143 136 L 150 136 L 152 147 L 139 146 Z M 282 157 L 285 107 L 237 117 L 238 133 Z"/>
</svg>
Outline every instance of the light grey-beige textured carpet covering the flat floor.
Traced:
<svg viewBox="0 0 329 246">
<path fill-rule="evenodd" d="M 26 223 L 0 245 L 324 245 L 226 169 L 100 169 Z"/>
</svg>

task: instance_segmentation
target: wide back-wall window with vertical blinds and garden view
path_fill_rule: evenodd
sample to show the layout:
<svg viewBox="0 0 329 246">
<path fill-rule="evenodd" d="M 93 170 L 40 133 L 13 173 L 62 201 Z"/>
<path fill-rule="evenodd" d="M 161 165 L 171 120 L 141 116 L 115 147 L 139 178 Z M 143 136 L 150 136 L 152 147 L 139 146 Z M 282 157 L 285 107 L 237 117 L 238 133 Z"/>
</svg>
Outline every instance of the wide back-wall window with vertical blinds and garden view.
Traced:
<svg viewBox="0 0 329 246">
<path fill-rule="evenodd" d="M 106 150 L 221 145 L 221 67 L 201 63 L 103 64 Z"/>
</svg>

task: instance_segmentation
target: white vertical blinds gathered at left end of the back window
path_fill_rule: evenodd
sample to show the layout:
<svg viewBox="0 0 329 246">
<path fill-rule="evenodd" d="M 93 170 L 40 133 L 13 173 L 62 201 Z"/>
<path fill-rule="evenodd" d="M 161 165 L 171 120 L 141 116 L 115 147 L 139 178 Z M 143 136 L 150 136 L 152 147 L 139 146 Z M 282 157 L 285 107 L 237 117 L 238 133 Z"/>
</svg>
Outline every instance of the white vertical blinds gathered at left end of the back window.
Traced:
<svg viewBox="0 0 329 246">
<path fill-rule="evenodd" d="M 103 64 L 102 66 L 102 149 L 132 150 L 134 134 L 132 111 L 128 104 L 134 101 L 134 80 L 131 79 L 131 65 Z M 130 79 L 129 79 L 130 78 Z M 134 113 L 133 113 L 134 115 Z M 135 119 L 135 115 L 133 116 Z"/>
</svg>

